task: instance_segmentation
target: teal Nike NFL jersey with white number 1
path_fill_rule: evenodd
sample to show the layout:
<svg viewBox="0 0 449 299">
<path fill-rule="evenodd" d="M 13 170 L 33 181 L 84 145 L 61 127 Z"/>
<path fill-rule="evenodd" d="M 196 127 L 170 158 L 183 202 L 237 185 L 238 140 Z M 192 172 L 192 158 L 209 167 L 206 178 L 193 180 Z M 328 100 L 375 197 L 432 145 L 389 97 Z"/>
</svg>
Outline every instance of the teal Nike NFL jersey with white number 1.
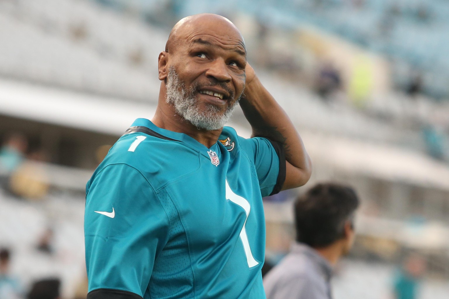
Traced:
<svg viewBox="0 0 449 299">
<path fill-rule="evenodd" d="M 207 148 L 136 119 L 86 186 L 88 298 L 265 298 L 262 197 L 282 147 L 225 127 Z"/>
</svg>

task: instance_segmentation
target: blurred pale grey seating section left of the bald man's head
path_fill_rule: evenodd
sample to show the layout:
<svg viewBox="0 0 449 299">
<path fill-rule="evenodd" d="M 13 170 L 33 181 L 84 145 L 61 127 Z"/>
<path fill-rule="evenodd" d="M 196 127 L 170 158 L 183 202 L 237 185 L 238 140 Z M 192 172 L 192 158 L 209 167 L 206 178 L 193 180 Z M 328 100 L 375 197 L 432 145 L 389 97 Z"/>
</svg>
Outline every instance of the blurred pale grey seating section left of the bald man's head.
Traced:
<svg viewBox="0 0 449 299">
<path fill-rule="evenodd" d="M 1 75 L 157 100 L 160 31 L 87 1 L 12 2 L 0 3 Z"/>
</svg>

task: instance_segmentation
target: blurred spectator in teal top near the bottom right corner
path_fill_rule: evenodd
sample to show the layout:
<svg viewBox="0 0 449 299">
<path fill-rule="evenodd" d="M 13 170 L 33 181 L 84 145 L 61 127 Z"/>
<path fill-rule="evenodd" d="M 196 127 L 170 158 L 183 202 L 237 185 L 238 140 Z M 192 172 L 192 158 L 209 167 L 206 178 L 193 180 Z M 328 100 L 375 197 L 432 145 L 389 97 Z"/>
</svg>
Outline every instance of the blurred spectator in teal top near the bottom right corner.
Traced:
<svg viewBox="0 0 449 299">
<path fill-rule="evenodd" d="M 394 299 L 417 299 L 418 288 L 426 269 L 426 263 L 420 255 L 409 255 L 394 277 Z"/>
</svg>

